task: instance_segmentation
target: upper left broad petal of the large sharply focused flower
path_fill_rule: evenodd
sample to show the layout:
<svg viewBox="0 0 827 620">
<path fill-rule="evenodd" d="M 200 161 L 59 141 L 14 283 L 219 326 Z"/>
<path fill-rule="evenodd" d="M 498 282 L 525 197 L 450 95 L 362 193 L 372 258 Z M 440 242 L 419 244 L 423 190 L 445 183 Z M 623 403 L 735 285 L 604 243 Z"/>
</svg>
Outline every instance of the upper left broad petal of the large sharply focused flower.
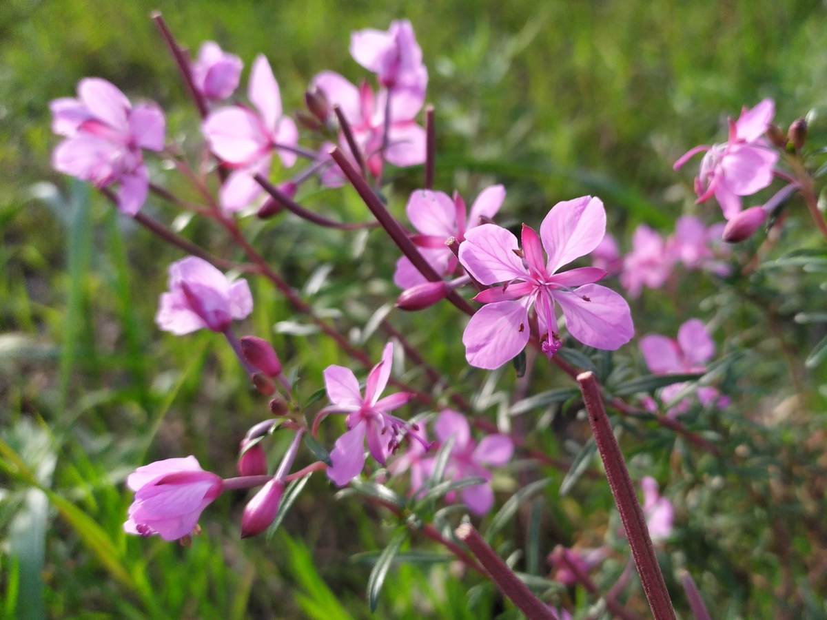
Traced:
<svg viewBox="0 0 827 620">
<path fill-rule="evenodd" d="M 519 250 L 519 245 L 510 231 L 495 224 L 483 224 L 466 232 L 459 259 L 482 284 L 524 279 L 528 273 L 514 250 Z"/>
</svg>

